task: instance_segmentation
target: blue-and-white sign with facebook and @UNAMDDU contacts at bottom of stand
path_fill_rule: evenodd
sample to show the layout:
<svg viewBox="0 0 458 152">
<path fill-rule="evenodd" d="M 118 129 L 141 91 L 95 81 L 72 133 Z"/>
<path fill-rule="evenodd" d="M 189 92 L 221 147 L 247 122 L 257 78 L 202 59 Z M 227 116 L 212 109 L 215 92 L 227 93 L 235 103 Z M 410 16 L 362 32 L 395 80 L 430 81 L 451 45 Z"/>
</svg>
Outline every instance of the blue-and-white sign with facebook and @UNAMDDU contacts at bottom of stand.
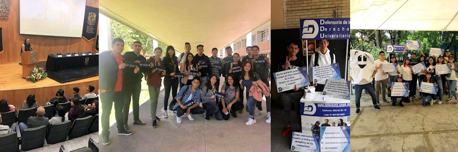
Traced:
<svg viewBox="0 0 458 152">
<path fill-rule="evenodd" d="M 320 150 L 350 151 L 350 127 L 320 127 Z"/>
</svg>

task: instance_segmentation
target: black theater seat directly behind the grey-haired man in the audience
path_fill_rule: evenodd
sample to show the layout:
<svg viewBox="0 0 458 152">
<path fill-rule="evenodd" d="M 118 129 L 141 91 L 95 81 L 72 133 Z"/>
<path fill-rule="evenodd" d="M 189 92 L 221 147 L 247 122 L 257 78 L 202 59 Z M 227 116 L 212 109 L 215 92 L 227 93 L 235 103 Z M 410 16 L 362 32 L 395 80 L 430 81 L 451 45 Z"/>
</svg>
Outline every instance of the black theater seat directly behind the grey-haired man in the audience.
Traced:
<svg viewBox="0 0 458 152">
<path fill-rule="evenodd" d="M 46 126 L 24 129 L 22 133 L 22 151 L 43 147 L 46 136 Z"/>
</svg>

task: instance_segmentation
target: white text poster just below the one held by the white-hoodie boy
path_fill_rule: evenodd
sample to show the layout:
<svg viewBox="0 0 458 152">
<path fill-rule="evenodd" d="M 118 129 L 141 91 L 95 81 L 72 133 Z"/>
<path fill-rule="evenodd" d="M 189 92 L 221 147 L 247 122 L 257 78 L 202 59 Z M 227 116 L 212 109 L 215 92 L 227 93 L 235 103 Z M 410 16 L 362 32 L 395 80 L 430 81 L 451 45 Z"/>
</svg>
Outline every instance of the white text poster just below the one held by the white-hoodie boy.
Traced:
<svg viewBox="0 0 458 152">
<path fill-rule="evenodd" d="M 344 79 L 326 80 L 323 95 L 350 100 L 350 81 L 345 81 Z"/>
</svg>

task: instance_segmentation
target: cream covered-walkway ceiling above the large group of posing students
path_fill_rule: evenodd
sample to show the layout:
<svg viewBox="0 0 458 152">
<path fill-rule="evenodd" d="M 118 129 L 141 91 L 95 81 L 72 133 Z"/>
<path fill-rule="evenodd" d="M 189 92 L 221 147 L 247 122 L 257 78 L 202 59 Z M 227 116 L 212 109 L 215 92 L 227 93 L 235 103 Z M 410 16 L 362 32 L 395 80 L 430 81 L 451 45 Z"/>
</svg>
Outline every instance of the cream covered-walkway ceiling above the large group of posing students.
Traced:
<svg viewBox="0 0 458 152">
<path fill-rule="evenodd" d="M 100 12 L 154 39 L 191 52 L 221 49 L 270 20 L 270 2 L 100 0 Z"/>
</svg>

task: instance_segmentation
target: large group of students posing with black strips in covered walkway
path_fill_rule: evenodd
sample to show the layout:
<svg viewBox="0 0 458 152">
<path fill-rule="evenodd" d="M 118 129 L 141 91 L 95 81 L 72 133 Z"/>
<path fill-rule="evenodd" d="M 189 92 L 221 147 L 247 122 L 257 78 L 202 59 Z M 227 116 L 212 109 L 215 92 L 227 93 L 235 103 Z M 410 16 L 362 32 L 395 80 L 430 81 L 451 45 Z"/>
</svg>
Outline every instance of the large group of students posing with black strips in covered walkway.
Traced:
<svg viewBox="0 0 458 152">
<path fill-rule="evenodd" d="M 247 56 L 240 60 L 238 53 L 232 54 L 231 47 L 225 48 L 227 56 L 223 59 L 217 57 L 217 48 L 212 49 L 212 56 L 206 56 L 203 45 L 197 45 L 197 54 L 193 55 L 190 53 L 189 43 L 185 43 L 185 52 L 178 57 L 175 48 L 168 46 L 164 50 L 164 57 L 161 57 L 163 50 L 158 47 L 153 50 L 154 56 L 146 59 L 140 54 L 140 42 L 134 42 L 133 51 L 124 55 L 121 54 L 124 40 L 113 39 L 111 45 L 112 51 L 100 54 L 100 66 L 104 67 L 99 70 L 100 95 L 104 103 L 101 121 L 104 145 L 110 142 L 109 115 L 113 103 L 118 135 L 132 134 L 127 125 L 131 98 L 134 124 L 145 125 L 138 118 L 140 82 L 144 77 L 150 95 L 153 128 L 157 128 L 157 121 L 160 121 L 156 111 L 162 79 L 165 92 L 163 118 L 168 118 L 168 110 L 176 113 L 177 123 L 182 123 L 180 117 L 183 115 L 193 121 L 192 114 L 204 112 L 206 120 L 210 120 L 212 116 L 216 120 L 228 120 L 230 115 L 236 118 L 237 112 L 242 112 L 244 108 L 242 90 L 246 90 L 246 110 L 249 118 L 245 124 L 256 123 L 254 116 L 260 115 L 260 112 L 255 113 L 254 106 L 262 110 L 263 96 L 267 100 L 266 123 L 270 123 L 270 60 L 259 54 L 258 46 L 247 47 Z M 220 87 L 221 76 L 225 78 L 225 82 Z M 170 93 L 173 100 L 169 105 Z"/>
</svg>

